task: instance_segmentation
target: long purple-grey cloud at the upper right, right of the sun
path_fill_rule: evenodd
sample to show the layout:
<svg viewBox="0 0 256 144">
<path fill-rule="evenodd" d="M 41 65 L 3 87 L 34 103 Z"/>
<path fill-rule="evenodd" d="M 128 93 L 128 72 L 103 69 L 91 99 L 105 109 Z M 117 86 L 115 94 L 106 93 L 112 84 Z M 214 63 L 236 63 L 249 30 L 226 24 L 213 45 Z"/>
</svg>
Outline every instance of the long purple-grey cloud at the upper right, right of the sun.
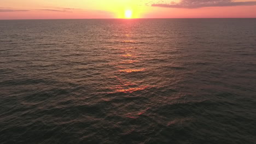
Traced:
<svg viewBox="0 0 256 144">
<path fill-rule="evenodd" d="M 180 2 L 154 3 L 152 7 L 162 8 L 187 8 L 196 9 L 202 7 L 231 7 L 238 5 L 256 5 L 256 1 L 234 2 L 233 0 L 181 0 Z"/>
</svg>

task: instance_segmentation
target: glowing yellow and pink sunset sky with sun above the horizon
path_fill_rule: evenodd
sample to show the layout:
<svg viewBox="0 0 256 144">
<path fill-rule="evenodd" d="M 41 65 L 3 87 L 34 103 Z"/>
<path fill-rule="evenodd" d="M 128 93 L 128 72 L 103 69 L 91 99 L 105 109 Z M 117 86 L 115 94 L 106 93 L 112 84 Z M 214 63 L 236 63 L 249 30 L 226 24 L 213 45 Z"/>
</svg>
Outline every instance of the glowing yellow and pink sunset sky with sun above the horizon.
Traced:
<svg viewBox="0 0 256 144">
<path fill-rule="evenodd" d="M 0 19 L 256 17 L 256 0 L 0 0 Z"/>
</svg>

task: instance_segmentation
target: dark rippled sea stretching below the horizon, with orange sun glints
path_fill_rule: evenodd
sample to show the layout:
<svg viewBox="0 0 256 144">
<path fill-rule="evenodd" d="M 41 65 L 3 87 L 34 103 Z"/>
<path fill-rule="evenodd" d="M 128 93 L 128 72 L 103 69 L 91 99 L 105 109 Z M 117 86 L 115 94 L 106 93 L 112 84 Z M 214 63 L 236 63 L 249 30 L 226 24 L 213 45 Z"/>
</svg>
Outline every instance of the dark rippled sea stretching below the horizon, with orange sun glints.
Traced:
<svg viewBox="0 0 256 144">
<path fill-rule="evenodd" d="M 0 143 L 255 143 L 255 26 L 0 21 Z"/>
</svg>

